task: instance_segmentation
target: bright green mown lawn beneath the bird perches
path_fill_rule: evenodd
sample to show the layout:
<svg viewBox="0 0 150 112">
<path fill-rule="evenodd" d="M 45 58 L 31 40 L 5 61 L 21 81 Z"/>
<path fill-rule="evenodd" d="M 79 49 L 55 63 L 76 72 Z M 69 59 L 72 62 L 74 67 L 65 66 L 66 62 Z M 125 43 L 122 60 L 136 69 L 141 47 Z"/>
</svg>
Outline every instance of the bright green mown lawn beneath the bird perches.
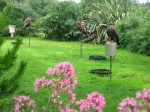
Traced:
<svg viewBox="0 0 150 112">
<path fill-rule="evenodd" d="M 11 48 L 12 41 L 6 40 L 2 51 Z M 14 96 L 28 95 L 36 101 L 39 107 L 44 105 L 55 112 L 55 107 L 48 103 L 50 91 L 41 89 L 35 93 L 33 83 L 36 78 L 48 77 L 45 73 L 47 68 L 63 61 L 71 62 L 75 68 L 75 74 L 78 77 L 78 86 L 74 90 L 76 100 L 86 98 L 86 95 L 92 91 L 98 91 L 106 98 L 104 112 L 117 112 L 118 104 L 122 99 L 127 96 L 135 97 L 137 91 L 150 87 L 150 57 L 118 49 L 113 60 L 113 77 L 110 82 L 109 76 L 100 77 L 90 73 L 92 69 L 109 69 L 109 57 L 106 60 L 94 61 L 89 60 L 91 55 L 105 56 L 105 46 L 84 43 L 83 56 L 80 56 L 79 42 L 57 42 L 31 38 L 29 47 L 28 38 L 24 38 L 18 51 L 16 66 L 7 74 L 12 74 L 21 60 L 28 62 L 28 66 L 19 80 L 18 90 L 12 96 L 4 99 L 7 102 L 6 108 L 10 106 L 10 101 Z"/>
</svg>

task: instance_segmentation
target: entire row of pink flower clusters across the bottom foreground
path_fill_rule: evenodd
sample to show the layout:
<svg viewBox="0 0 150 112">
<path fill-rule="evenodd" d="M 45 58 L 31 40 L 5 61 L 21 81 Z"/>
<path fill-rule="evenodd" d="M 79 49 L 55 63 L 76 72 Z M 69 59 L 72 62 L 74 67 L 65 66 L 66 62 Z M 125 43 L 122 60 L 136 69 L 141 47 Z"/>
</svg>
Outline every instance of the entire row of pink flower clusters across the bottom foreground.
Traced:
<svg viewBox="0 0 150 112">
<path fill-rule="evenodd" d="M 53 68 L 48 68 L 46 73 L 51 77 L 47 80 L 45 77 L 36 79 L 34 89 L 36 92 L 41 87 L 48 87 L 51 91 L 51 101 L 56 104 L 59 112 L 78 112 L 71 109 L 70 104 L 75 103 L 79 106 L 81 112 L 95 111 L 102 112 L 102 107 L 105 106 L 105 98 L 98 92 L 92 92 L 87 95 L 86 99 L 76 101 L 76 94 L 72 91 L 77 86 L 77 77 L 74 74 L 74 68 L 69 62 L 58 63 Z M 68 102 L 61 100 L 62 93 L 68 96 Z M 14 107 L 10 112 L 34 112 L 34 100 L 28 96 L 19 96 L 14 99 Z M 136 93 L 136 98 L 125 98 L 118 106 L 120 112 L 150 112 L 150 89 L 143 89 Z M 42 111 L 46 111 L 42 107 Z"/>
</svg>

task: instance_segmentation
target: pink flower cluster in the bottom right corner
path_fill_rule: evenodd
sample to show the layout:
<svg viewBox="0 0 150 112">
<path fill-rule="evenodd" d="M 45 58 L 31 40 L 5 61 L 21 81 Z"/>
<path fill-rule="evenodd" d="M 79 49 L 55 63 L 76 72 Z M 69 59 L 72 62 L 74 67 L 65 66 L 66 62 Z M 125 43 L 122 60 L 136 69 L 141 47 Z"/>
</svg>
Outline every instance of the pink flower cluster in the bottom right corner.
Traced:
<svg viewBox="0 0 150 112">
<path fill-rule="evenodd" d="M 120 112 L 150 112 L 150 89 L 136 93 L 136 99 L 125 98 L 119 104 Z"/>
</svg>

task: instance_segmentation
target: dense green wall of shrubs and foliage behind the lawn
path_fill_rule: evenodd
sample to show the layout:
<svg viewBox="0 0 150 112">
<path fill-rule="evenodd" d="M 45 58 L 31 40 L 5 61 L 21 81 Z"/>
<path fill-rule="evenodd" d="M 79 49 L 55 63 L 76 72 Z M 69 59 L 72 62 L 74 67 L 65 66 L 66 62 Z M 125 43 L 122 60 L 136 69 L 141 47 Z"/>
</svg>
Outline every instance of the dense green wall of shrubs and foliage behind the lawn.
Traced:
<svg viewBox="0 0 150 112">
<path fill-rule="evenodd" d="M 114 23 L 117 25 L 122 48 L 150 55 L 149 3 L 139 4 L 135 0 L 81 0 L 78 4 L 72 0 L 12 0 L 12 3 L 14 10 L 7 23 L 2 23 L 8 24 L 11 19 L 10 24 L 16 25 L 17 35 L 28 35 L 22 26 L 25 18 L 32 15 L 32 35 L 57 40 L 78 40 L 75 35 L 76 21 L 81 17 L 90 33 L 85 41 L 96 39 L 98 43 L 105 43 L 107 34 L 103 25 Z M 0 4 L 1 11 L 9 11 L 5 9 L 6 1 L 2 0 Z M 0 19 L 4 18 L 0 16 Z M 8 28 L 1 34 L 10 35 Z"/>
</svg>

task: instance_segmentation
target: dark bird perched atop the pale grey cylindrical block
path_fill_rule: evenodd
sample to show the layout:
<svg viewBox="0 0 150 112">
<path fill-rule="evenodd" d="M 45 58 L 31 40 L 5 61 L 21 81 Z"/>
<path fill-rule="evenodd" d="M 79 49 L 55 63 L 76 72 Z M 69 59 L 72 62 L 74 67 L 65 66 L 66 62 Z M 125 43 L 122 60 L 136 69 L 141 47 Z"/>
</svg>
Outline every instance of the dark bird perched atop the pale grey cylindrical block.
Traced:
<svg viewBox="0 0 150 112">
<path fill-rule="evenodd" d="M 110 38 L 110 40 L 112 40 L 113 42 L 116 42 L 117 45 L 120 45 L 119 36 L 113 25 L 108 25 L 108 27 L 106 29 L 106 33 L 107 33 L 108 37 Z"/>
</svg>

